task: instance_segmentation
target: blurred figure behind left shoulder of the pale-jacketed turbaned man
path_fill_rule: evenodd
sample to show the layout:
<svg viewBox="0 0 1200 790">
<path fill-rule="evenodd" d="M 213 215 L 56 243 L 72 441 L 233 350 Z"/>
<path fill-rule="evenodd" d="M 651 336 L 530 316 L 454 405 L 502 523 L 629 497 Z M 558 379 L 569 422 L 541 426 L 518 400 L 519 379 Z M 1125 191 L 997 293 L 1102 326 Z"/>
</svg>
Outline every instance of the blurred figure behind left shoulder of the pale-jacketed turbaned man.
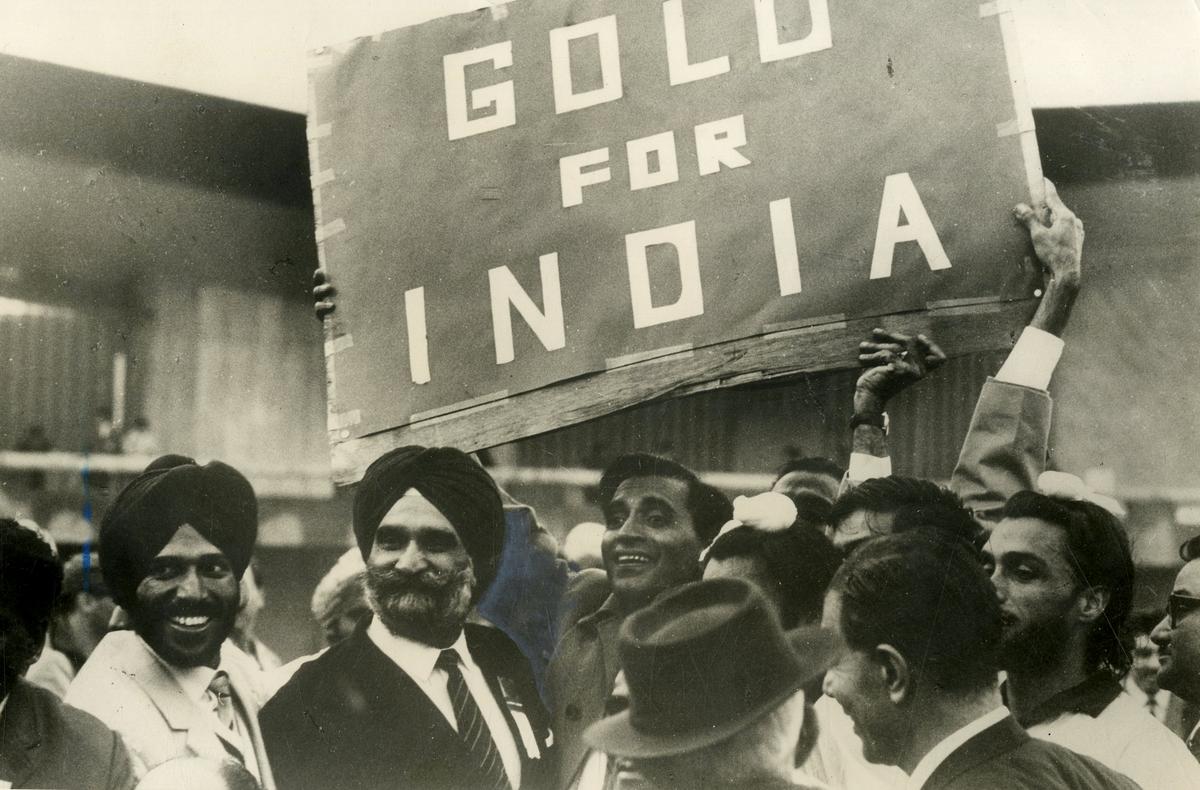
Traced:
<svg viewBox="0 0 1200 790">
<path fill-rule="evenodd" d="M 30 683 L 59 698 L 104 638 L 116 608 L 100 571 L 100 556 L 84 551 L 86 557 L 79 553 L 64 563 L 47 646 L 26 675 Z"/>
</svg>

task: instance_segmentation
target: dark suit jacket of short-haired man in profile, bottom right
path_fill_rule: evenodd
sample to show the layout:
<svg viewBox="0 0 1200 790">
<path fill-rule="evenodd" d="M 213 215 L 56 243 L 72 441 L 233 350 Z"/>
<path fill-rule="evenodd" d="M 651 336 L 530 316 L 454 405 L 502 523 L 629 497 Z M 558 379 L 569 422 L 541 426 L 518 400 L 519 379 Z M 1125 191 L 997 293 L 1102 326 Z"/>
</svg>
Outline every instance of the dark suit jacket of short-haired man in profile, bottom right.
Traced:
<svg viewBox="0 0 1200 790">
<path fill-rule="evenodd" d="M 1138 790 L 1092 758 L 1031 737 L 1012 716 L 974 736 L 934 770 L 922 790 Z"/>
</svg>

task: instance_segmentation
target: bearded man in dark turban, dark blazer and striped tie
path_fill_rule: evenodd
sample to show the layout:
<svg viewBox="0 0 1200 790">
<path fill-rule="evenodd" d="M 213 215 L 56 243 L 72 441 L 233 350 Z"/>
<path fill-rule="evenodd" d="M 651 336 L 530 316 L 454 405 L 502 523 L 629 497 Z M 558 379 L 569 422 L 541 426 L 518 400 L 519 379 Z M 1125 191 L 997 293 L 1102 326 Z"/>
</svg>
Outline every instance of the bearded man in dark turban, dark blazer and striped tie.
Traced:
<svg viewBox="0 0 1200 790">
<path fill-rule="evenodd" d="M 391 450 L 355 491 L 354 537 L 374 617 L 263 708 L 280 788 L 542 786 L 548 731 L 529 663 L 467 622 L 504 543 L 492 478 L 451 448 Z"/>
</svg>

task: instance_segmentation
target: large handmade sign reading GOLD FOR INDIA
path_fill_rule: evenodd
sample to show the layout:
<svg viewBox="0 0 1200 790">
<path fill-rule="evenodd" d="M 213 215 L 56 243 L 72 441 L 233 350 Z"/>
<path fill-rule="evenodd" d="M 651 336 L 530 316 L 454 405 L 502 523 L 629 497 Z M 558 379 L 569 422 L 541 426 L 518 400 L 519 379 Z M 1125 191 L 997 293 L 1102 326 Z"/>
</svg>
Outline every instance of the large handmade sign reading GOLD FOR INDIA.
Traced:
<svg viewBox="0 0 1200 790">
<path fill-rule="evenodd" d="M 1032 271 L 1009 209 L 1040 185 L 1010 26 L 998 4 L 517 0 L 320 50 L 335 477 L 851 365 L 881 317 L 1007 342 Z"/>
</svg>

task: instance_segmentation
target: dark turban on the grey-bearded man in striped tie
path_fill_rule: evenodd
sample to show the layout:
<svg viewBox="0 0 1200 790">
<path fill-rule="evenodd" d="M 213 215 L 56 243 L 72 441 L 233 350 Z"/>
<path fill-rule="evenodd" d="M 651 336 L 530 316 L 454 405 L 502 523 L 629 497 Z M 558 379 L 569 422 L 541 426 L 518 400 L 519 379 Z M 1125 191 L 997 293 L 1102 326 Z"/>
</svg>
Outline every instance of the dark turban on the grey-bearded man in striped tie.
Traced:
<svg viewBox="0 0 1200 790">
<path fill-rule="evenodd" d="M 376 459 L 354 492 L 354 538 L 366 559 L 383 517 L 416 489 L 454 525 L 487 589 L 504 546 L 504 505 L 492 477 L 451 447 L 401 447 Z"/>
</svg>

